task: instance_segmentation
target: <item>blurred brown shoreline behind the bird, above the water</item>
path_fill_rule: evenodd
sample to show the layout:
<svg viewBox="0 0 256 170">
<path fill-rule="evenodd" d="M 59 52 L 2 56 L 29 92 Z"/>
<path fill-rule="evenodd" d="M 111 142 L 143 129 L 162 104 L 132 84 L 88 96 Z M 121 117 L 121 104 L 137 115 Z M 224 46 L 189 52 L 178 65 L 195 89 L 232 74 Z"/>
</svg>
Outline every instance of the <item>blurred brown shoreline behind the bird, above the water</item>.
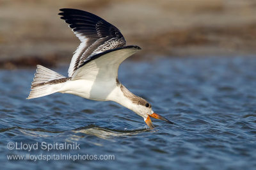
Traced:
<svg viewBox="0 0 256 170">
<path fill-rule="evenodd" d="M 95 13 L 120 29 L 131 59 L 255 56 L 256 1 L 0 0 L 0 68 L 68 64 L 79 40 L 60 8 Z"/>
</svg>

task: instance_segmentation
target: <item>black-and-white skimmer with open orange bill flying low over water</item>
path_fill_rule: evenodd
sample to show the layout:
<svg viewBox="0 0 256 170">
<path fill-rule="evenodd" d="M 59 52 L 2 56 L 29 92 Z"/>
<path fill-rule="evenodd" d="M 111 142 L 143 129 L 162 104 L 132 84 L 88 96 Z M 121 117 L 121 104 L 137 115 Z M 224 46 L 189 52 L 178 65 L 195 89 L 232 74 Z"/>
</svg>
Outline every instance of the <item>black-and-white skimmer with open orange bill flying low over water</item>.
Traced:
<svg viewBox="0 0 256 170">
<path fill-rule="evenodd" d="M 69 93 L 96 101 L 113 101 L 141 116 L 149 128 L 154 128 L 150 117 L 172 123 L 152 111 L 147 100 L 131 93 L 118 80 L 122 61 L 141 50 L 137 45 L 126 45 L 119 29 L 93 13 L 72 8 L 61 8 L 65 20 L 81 41 L 74 52 L 68 77 L 42 65 L 36 65 L 27 99 L 52 93 Z"/>
</svg>

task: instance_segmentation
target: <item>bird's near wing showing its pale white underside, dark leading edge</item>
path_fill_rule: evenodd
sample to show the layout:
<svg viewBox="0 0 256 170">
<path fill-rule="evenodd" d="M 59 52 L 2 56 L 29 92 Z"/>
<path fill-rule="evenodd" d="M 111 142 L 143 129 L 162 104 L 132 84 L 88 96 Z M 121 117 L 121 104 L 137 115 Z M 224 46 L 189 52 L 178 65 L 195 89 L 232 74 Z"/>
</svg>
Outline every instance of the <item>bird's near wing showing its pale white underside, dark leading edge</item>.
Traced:
<svg viewBox="0 0 256 170">
<path fill-rule="evenodd" d="M 119 65 L 138 50 L 141 50 L 141 48 L 129 45 L 95 54 L 90 59 L 86 59 L 83 65 L 74 72 L 72 80 L 86 79 L 102 83 L 116 82 Z"/>
</svg>

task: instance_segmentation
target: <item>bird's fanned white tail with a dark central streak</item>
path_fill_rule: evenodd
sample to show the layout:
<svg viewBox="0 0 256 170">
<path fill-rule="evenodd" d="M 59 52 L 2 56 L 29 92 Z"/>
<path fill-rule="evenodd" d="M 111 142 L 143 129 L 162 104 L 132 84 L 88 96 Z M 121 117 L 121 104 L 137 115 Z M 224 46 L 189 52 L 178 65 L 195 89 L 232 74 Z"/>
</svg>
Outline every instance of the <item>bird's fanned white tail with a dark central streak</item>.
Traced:
<svg viewBox="0 0 256 170">
<path fill-rule="evenodd" d="M 27 99 L 44 97 L 56 93 L 60 91 L 61 84 L 69 79 L 49 68 L 37 65 L 35 77 L 31 84 L 31 91 Z"/>
</svg>

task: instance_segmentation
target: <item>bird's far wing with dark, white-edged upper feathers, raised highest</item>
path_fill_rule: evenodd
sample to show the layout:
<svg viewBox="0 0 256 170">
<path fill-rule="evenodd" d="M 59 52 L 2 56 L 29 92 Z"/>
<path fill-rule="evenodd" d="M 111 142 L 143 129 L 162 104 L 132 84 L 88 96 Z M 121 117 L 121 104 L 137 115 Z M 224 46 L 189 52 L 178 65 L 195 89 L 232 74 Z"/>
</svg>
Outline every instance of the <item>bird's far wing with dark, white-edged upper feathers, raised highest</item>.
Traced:
<svg viewBox="0 0 256 170">
<path fill-rule="evenodd" d="M 61 19 L 69 24 L 81 40 L 68 68 L 68 77 L 72 77 L 76 70 L 86 61 L 90 61 L 95 54 L 124 47 L 124 36 L 106 20 L 82 10 L 63 8 L 60 11 Z"/>
</svg>

